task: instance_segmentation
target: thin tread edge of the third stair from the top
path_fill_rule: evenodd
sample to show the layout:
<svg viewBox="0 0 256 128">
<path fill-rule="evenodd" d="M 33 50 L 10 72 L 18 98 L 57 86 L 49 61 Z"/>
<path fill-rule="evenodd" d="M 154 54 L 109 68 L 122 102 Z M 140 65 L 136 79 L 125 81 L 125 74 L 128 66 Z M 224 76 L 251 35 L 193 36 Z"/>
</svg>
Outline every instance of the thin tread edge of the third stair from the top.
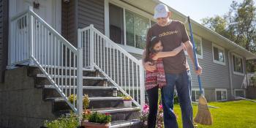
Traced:
<svg viewBox="0 0 256 128">
<path fill-rule="evenodd" d="M 45 85 L 45 89 L 55 89 L 54 86 L 52 85 Z M 63 89 L 74 89 L 74 86 L 59 86 L 60 88 Z M 75 86 L 77 88 L 77 86 Z M 83 89 L 117 89 L 115 86 L 83 86 Z"/>
</svg>

